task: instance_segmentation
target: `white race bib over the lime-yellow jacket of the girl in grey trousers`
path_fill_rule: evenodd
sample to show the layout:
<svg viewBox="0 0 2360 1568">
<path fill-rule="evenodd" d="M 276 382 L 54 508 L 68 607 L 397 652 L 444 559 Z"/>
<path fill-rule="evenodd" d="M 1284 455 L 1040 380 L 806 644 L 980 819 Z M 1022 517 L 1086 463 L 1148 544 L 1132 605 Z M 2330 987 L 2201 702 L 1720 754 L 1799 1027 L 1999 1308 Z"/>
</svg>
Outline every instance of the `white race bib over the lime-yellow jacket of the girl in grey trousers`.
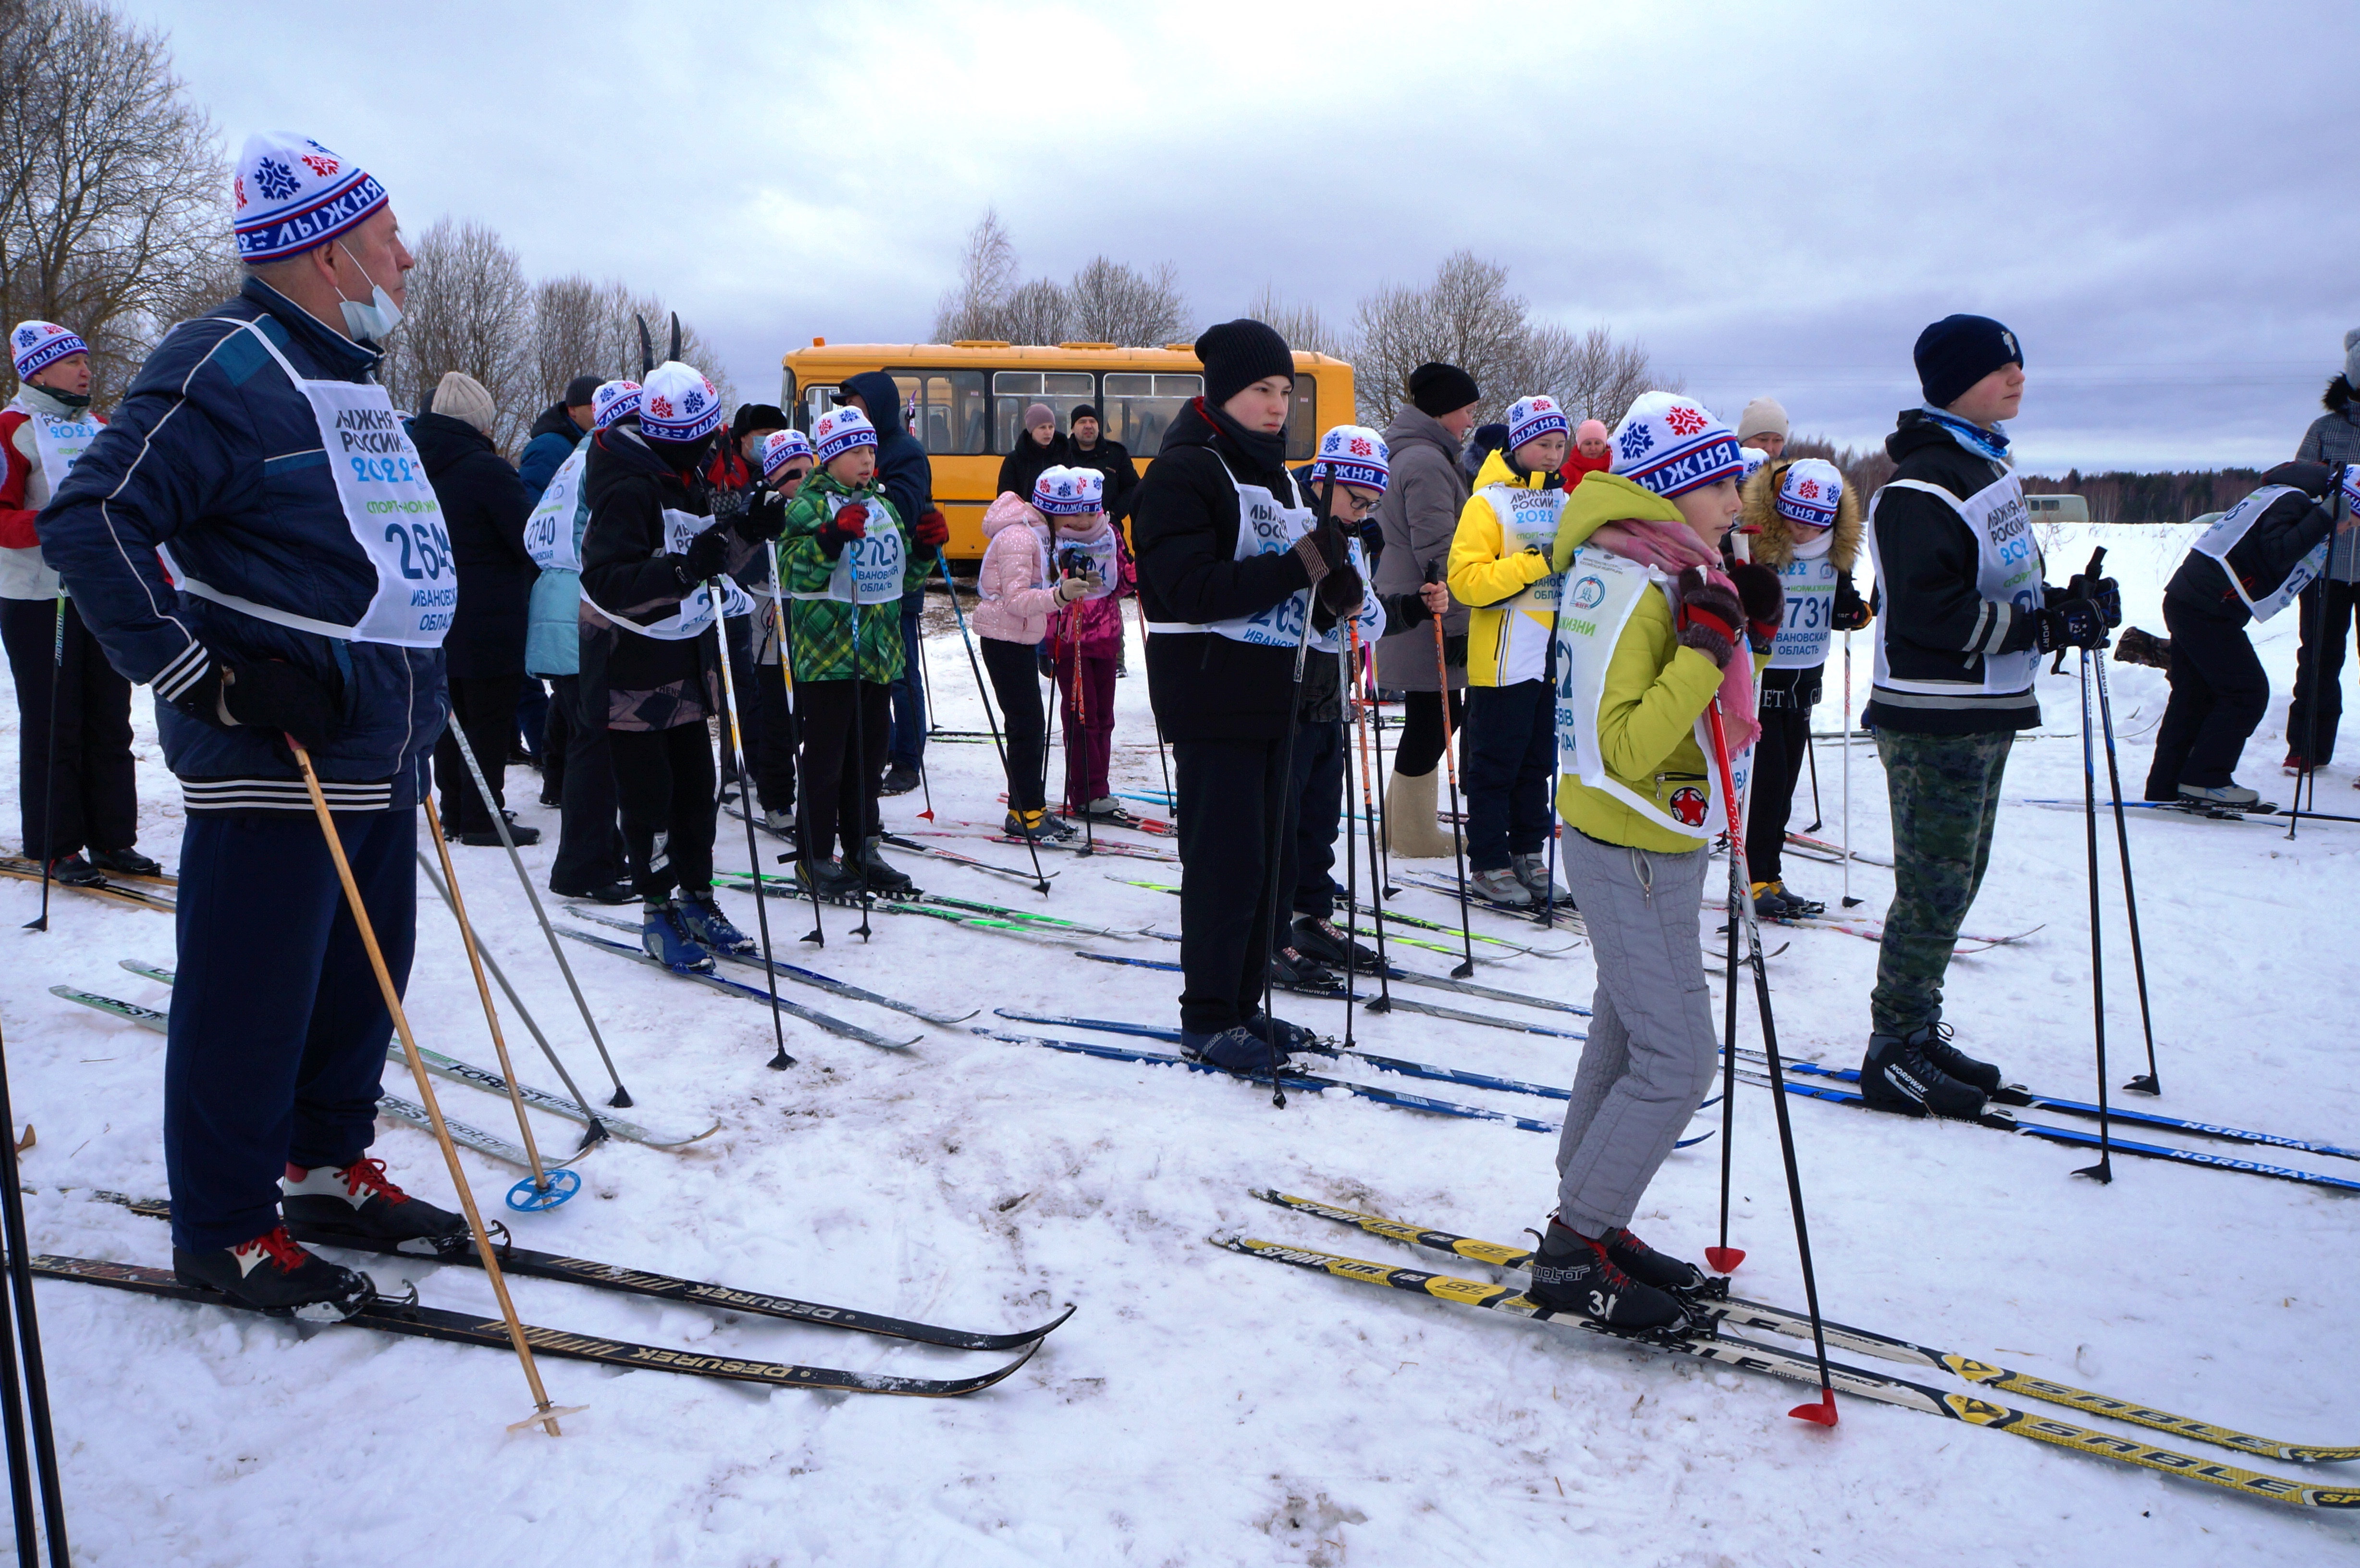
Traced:
<svg viewBox="0 0 2360 1568">
<path fill-rule="evenodd" d="M 1607 666 L 1631 623 L 1631 612 L 1650 588 L 1671 597 L 1664 574 L 1605 550 L 1574 550 L 1574 560 L 1565 567 L 1565 600 L 1558 607 L 1558 767 L 1621 801 L 1647 822 L 1704 841 L 1728 822 L 1720 805 L 1720 770 L 1711 760 L 1711 716 L 1697 720 L 1697 749 L 1704 751 L 1706 777 L 1680 779 L 1671 791 L 1669 815 L 1652 796 L 1626 789 L 1607 772 L 1598 749 L 1598 704 L 1605 699 Z M 1742 796 L 1753 770 L 1753 751 L 1730 758 L 1730 767 Z"/>
</svg>

